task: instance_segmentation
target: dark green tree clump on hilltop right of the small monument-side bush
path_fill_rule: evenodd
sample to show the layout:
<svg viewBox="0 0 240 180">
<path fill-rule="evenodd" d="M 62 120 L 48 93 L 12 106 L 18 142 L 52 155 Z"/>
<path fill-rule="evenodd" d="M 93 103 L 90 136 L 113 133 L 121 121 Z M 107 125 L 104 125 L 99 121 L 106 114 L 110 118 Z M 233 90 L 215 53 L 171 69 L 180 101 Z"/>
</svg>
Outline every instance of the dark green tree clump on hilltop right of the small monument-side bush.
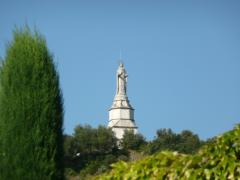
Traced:
<svg viewBox="0 0 240 180">
<path fill-rule="evenodd" d="M 145 152 L 154 154 L 163 150 L 178 151 L 191 154 L 196 152 L 202 146 L 198 135 L 189 130 L 184 130 L 180 134 L 174 133 L 171 129 L 160 129 L 157 131 L 157 137 L 149 143 Z"/>
</svg>

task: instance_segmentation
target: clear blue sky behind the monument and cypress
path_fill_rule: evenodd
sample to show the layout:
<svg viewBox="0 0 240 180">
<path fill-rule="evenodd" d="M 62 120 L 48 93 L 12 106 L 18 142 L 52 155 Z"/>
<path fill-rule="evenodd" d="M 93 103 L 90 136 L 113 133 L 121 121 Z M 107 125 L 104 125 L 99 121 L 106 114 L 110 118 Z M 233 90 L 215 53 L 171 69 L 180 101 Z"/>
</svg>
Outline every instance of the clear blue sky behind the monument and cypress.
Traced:
<svg viewBox="0 0 240 180">
<path fill-rule="evenodd" d="M 65 133 L 107 125 L 120 50 L 139 131 L 206 139 L 240 121 L 239 0 L 0 0 L 0 56 L 36 26 L 60 73 Z"/>
</svg>

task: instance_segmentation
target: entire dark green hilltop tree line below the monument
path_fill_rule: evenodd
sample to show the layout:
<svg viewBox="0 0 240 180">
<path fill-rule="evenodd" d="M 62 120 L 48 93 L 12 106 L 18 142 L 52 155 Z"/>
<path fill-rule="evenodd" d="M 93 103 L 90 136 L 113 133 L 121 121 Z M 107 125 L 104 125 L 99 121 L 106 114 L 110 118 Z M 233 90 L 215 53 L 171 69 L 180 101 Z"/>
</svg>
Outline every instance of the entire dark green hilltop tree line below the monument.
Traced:
<svg viewBox="0 0 240 180">
<path fill-rule="evenodd" d="M 80 177 L 101 174 L 119 160 L 138 160 L 164 150 L 194 154 L 205 143 L 189 130 L 174 133 L 171 129 L 157 130 L 152 141 L 129 130 L 119 142 L 105 126 L 78 125 L 73 135 L 64 136 L 66 173 L 70 176 L 80 174 Z"/>
</svg>

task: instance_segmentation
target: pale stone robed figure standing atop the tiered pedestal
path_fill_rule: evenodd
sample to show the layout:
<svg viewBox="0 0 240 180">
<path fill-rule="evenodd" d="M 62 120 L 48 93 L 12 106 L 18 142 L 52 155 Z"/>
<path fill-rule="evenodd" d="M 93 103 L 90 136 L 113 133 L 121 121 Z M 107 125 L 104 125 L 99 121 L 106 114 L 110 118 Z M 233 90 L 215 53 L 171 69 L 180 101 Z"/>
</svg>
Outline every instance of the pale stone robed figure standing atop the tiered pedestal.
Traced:
<svg viewBox="0 0 240 180">
<path fill-rule="evenodd" d="M 127 73 L 121 63 L 117 71 L 117 94 L 127 93 Z"/>
</svg>

